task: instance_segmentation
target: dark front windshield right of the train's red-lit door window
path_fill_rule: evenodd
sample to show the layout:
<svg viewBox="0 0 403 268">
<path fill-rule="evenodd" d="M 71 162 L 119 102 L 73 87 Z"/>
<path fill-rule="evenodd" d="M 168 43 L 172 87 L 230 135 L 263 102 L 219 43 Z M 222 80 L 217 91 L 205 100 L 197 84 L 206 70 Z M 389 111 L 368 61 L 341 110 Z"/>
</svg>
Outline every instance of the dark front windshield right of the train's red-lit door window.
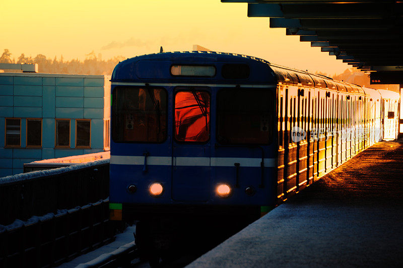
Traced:
<svg viewBox="0 0 403 268">
<path fill-rule="evenodd" d="M 222 89 L 217 94 L 217 141 L 268 144 L 272 136 L 274 96 L 267 89 Z"/>
</svg>

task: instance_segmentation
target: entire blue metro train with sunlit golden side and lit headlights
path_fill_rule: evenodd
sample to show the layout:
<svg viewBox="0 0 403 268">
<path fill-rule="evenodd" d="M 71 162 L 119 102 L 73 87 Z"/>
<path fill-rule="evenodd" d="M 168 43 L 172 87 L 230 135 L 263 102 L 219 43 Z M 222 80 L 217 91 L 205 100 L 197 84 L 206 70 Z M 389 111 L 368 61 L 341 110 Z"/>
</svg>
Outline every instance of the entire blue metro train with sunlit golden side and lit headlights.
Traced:
<svg viewBox="0 0 403 268">
<path fill-rule="evenodd" d="M 144 247 L 166 219 L 257 219 L 397 135 L 397 93 L 245 55 L 130 58 L 111 94 L 111 219 L 140 220 Z"/>
</svg>

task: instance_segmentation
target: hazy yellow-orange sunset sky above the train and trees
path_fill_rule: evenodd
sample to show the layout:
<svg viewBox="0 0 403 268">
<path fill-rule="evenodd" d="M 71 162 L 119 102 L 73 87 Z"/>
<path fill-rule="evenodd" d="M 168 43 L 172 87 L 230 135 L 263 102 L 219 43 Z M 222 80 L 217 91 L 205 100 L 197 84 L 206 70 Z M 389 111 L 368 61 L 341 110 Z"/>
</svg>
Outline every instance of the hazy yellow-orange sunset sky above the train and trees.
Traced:
<svg viewBox="0 0 403 268">
<path fill-rule="evenodd" d="M 247 4 L 220 0 L 2 0 L 0 52 L 85 59 L 191 50 L 247 54 L 297 69 L 333 75 L 349 68 L 335 56 L 270 29 L 268 18 L 248 18 Z"/>
</svg>

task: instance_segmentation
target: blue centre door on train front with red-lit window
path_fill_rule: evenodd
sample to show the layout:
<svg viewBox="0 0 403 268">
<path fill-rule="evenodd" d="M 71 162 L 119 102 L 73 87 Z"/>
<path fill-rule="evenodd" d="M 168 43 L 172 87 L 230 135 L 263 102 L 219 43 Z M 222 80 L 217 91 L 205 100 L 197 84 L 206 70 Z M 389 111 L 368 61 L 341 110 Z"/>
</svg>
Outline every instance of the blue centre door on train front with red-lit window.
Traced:
<svg viewBox="0 0 403 268">
<path fill-rule="evenodd" d="M 211 90 L 177 87 L 173 98 L 172 199 L 206 202 L 211 192 Z"/>
</svg>

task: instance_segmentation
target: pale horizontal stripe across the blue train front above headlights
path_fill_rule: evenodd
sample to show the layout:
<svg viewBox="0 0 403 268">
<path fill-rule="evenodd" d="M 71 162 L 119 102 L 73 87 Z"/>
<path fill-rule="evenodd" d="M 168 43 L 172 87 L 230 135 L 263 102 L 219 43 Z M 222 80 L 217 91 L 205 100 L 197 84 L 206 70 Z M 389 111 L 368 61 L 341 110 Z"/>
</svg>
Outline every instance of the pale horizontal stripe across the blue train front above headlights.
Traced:
<svg viewBox="0 0 403 268">
<path fill-rule="evenodd" d="M 239 163 L 241 167 L 260 167 L 261 158 L 238 157 L 169 157 L 149 156 L 147 165 L 156 166 L 214 166 L 233 167 Z M 144 156 L 110 156 L 110 164 L 114 165 L 144 165 Z M 265 167 L 274 167 L 275 158 L 264 158 Z"/>
</svg>

